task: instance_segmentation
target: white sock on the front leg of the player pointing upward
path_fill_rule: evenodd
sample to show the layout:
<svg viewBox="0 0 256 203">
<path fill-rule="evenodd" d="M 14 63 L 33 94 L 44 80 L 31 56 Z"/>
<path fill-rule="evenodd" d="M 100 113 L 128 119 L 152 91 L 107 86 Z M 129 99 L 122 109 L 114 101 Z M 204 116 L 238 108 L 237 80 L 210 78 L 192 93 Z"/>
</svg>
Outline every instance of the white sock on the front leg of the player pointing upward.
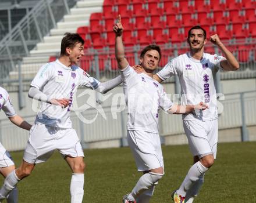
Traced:
<svg viewBox="0 0 256 203">
<path fill-rule="evenodd" d="M 159 173 L 145 173 L 143 176 L 138 179 L 136 186 L 133 188 L 131 193 L 128 195 L 127 200 L 135 201 L 136 198 L 142 194 L 145 190 L 150 189 L 151 186 L 154 186 L 162 178 L 163 174 Z"/>
</svg>

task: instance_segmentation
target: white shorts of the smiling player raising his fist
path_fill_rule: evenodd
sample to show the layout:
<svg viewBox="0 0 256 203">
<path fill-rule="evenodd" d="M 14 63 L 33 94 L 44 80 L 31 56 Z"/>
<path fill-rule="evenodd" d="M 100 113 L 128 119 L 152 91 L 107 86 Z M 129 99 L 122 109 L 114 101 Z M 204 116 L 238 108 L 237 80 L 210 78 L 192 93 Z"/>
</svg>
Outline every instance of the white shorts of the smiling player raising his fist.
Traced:
<svg viewBox="0 0 256 203">
<path fill-rule="evenodd" d="M 216 158 L 218 143 L 218 119 L 201 121 L 184 120 L 184 131 L 189 140 L 190 151 L 199 158 L 214 154 Z"/>
</svg>

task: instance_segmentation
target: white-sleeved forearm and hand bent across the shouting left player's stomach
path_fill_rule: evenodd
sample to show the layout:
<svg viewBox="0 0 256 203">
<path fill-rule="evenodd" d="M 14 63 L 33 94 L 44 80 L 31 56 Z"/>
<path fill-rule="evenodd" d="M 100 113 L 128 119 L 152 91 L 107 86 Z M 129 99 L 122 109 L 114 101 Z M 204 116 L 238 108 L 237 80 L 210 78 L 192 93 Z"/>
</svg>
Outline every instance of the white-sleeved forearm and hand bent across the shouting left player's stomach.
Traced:
<svg viewBox="0 0 256 203">
<path fill-rule="evenodd" d="M 69 105 L 69 99 L 49 99 L 47 95 L 42 93 L 38 88 L 35 88 L 34 86 L 31 86 L 29 89 L 29 97 L 31 99 L 36 99 L 41 102 L 47 102 L 49 104 L 61 106 L 62 108 L 65 108 Z"/>
</svg>

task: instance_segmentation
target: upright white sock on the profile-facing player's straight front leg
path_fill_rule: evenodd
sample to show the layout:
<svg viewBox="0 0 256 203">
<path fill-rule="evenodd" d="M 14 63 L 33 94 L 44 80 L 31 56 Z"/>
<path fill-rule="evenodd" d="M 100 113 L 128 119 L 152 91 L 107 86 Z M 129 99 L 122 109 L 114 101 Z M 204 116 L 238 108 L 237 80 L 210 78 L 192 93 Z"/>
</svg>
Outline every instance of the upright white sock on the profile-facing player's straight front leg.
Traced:
<svg viewBox="0 0 256 203">
<path fill-rule="evenodd" d="M 84 173 L 72 173 L 70 183 L 71 203 L 81 203 L 84 196 Z"/>
</svg>

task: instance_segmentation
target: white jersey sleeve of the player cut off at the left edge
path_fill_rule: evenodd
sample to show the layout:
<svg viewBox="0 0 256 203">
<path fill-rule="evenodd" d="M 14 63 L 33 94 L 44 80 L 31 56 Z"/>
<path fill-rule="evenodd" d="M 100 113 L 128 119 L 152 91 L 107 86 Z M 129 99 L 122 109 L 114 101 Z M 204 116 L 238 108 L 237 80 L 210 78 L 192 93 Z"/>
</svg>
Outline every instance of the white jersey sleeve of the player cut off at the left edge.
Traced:
<svg viewBox="0 0 256 203">
<path fill-rule="evenodd" d="M 0 111 L 1 109 L 7 117 L 14 117 L 16 115 L 8 92 L 2 87 L 0 87 Z"/>
</svg>

